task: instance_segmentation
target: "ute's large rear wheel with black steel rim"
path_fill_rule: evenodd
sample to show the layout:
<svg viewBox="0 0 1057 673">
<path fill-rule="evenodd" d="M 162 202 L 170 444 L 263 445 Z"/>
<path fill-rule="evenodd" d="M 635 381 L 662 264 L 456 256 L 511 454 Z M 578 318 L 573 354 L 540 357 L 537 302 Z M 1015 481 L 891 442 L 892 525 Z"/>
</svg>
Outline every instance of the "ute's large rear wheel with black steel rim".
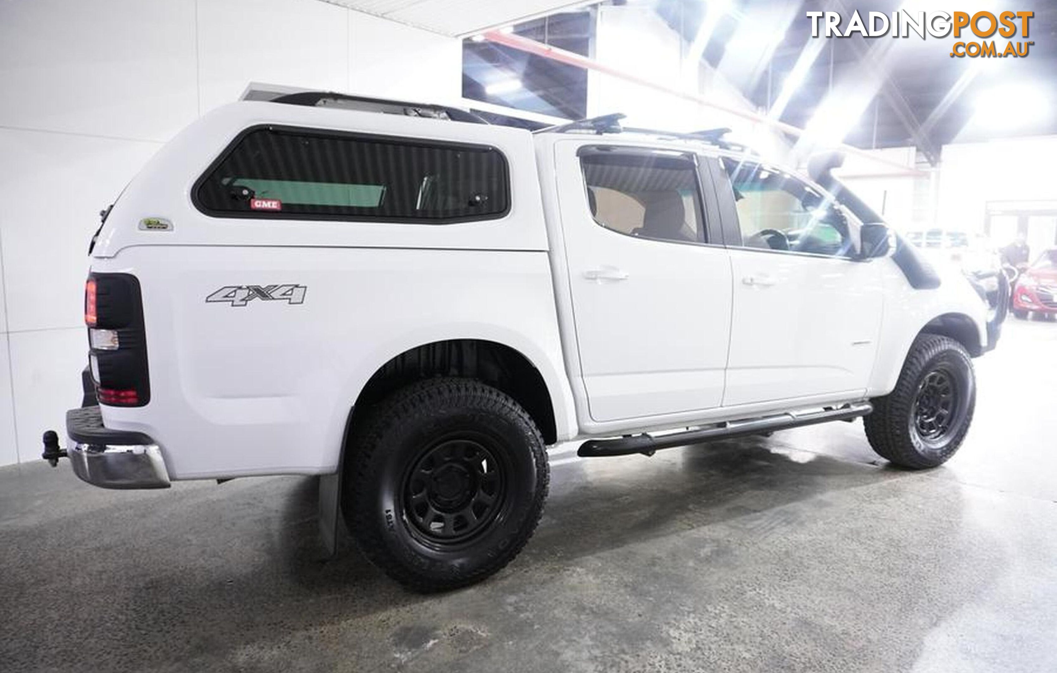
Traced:
<svg viewBox="0 0 1057 673">
<path fill-rule="evenodd" d="M 342 511 L 357 546 L 402 584 L 438 592 L 509 563 L 539 522 L 543 439 L 509 396 L 470 379 L 410 385 L 353 434 Z"/>
</svg>

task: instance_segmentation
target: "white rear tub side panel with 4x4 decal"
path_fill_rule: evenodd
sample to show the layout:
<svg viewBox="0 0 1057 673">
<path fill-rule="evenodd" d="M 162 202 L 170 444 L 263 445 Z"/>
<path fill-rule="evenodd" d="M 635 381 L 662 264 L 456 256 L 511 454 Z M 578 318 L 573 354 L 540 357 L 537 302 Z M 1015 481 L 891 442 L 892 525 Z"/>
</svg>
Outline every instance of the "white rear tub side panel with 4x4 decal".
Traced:
<svg viewBox="0 0 1057 673">
<path fill-rule="evenodd" d="M 559 438 L 575 432 L 545 253 L 137 247 L 93 268 L 140 277 L 149 343 L 150 403 L 105 406 L 106 423 L 157 439 L 174 478 L 333 472 L 371 375 L 449 339 L 520 351 L 555 397 Z M 206 302 L 276 283 L 303 302 Z"/>
</svg>

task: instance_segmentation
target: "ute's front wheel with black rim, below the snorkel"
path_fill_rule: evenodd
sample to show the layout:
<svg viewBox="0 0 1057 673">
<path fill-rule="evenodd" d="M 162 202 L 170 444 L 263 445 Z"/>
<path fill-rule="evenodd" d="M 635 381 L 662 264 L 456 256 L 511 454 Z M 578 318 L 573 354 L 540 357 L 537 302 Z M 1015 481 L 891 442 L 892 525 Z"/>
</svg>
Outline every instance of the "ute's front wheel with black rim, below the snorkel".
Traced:
<svg viewBox="0 0 1057 673">
<path fill-rule="evenodd" d="M 864 419 L 867 439 L 883 458 L 911 468 L 946 462 L 972 421 L 977 387 L 972 362 L 962 344 L 921 334 L 889 395 L 873 400 Z"/>
</svg>

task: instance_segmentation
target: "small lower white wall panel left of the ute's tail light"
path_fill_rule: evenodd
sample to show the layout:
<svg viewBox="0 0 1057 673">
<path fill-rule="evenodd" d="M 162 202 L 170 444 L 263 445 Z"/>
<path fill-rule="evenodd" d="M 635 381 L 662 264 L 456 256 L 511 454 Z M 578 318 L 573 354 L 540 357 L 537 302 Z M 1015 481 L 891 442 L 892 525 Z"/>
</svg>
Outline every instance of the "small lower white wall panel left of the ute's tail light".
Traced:
<svg viewBox="0 0 1057 673">
<path fill-rule="evenodd" d="M 66 411 L 80 406 L 80 371 L 88 363 L 88 338 L 80 327 L 16 332 L 7 339 L 18 453 L 23 461 L 35 460 L 40 458 L 40 435 L 45 430 L 59 433 L 66 445 L 61 439 L 66 433 Z M 0 432 L 2 423 L 0 418 Z"/>
</svg>

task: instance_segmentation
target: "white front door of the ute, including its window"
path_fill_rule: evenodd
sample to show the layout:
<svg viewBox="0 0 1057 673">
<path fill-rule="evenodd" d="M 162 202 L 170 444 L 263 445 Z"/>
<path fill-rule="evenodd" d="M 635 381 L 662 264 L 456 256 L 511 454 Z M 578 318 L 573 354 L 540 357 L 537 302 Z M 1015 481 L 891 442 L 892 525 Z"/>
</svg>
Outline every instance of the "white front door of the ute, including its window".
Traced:
<svg viewBox="0 0 1057 673">
<path fill-rule="evenodd" d="M 854 216 L 781 170 L 722 163 L 717 187 L 738 222 L 723 404 L 861 395 L 884 294 L 879 265 L 855 258 Z"/>
</svg>

